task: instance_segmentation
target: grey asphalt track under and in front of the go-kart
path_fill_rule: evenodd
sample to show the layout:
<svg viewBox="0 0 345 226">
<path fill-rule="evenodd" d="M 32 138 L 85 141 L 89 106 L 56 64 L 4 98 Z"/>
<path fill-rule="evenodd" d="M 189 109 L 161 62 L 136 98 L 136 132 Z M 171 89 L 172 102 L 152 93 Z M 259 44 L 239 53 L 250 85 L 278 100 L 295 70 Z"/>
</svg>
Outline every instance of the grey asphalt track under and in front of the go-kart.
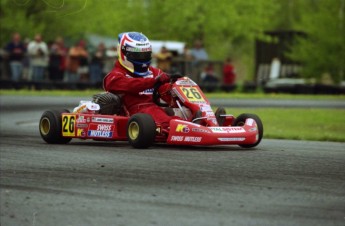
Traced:
<svg viewBox="0 0 345 226">
<path fill-rule="evenodd" d="M 73 101 L 1 96 L 1 226 L 345 225 L 344 143 L 44 143 L 43 111 Z"/>
</svg>

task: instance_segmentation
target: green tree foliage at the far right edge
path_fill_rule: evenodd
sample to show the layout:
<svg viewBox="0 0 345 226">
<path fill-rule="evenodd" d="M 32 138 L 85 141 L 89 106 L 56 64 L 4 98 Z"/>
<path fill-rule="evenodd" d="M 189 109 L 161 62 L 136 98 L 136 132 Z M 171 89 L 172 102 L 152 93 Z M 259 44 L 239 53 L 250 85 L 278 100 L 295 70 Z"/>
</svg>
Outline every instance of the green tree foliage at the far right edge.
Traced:
<svg viewBox="0 0 345 226">
<path fill-rule="evenodd" d="M 344 79 L 345 67 L 345 1 L 304 0 L 304 12 L 296 29 L 306 32 L 297 39 L 289 56 L 303 63 L 302 74 L 320 81 L 328 73 L 334 82 Z"/>
</svg>

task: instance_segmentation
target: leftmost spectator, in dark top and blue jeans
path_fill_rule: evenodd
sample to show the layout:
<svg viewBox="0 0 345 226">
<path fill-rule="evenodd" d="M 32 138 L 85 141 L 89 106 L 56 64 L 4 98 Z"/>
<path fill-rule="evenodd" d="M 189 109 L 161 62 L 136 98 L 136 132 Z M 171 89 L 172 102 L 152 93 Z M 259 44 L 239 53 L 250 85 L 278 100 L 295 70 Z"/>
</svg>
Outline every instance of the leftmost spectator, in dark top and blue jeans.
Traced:
<svg viewBox="0 0 345 226">
<path fill-rule="evenodd" d="M 11 68 L 11 79 L 18 81 L 23 73 L 23 59 L 26 51 L 24 43 L 21 41 L 19 33 L 14 33 L 12 41 L 7 44 L 5 50 L 9 56 L 9 63 Z"/>
</svg>

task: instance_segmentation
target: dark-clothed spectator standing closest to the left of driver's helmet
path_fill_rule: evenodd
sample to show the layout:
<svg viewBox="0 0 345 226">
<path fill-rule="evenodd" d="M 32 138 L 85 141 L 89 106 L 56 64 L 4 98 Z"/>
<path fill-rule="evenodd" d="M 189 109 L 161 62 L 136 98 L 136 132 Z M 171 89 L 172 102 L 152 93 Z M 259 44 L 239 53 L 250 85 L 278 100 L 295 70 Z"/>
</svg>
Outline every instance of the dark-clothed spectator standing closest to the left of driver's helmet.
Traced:
<svg viewBox="0 0 345 226">
<path fill-rule="evenodd" d="M 90 81 L 92 83 L 99 83 L 103 81 L 103 66 L 105 60 L 105 46 L 100 43 L 93 53 L 90 62 Z"/>
</svg>

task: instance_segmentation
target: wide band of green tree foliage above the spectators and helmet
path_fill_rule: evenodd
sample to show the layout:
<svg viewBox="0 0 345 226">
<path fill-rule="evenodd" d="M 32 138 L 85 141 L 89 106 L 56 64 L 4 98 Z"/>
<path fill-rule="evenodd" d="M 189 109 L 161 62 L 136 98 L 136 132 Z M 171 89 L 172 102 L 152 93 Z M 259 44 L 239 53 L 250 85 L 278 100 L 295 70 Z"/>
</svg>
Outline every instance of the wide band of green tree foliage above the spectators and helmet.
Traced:
<svg viewBox="0 0 345 226">
<path fill-rule="evenodd" d="M 279 2 L 279 1 L 278 1 Z M 18 31 L 45 40 L 140 31 L 152 40 L 202 39 L 212 59 L 253 65 L 254 39 L 270 27 L 277 0 L 1 0 L 3 46 Z"/>
</svg>

